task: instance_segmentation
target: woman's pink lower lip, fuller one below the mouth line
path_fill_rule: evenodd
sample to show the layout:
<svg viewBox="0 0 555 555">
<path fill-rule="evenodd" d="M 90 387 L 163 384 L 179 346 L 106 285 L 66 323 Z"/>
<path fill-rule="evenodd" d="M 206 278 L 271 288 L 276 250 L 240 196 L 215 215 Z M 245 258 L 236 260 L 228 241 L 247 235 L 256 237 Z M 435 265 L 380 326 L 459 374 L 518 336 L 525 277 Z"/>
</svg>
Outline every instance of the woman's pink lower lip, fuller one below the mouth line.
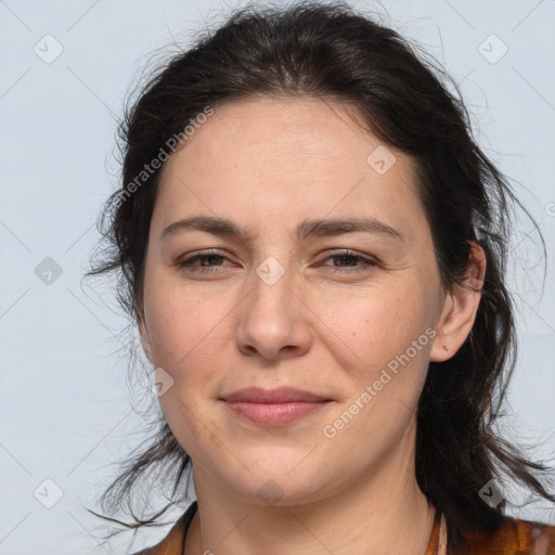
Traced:
<svg viewBox="0 0 555 555">
<path fill-rule="evenodd" d="M 256 424 L 281 426 L 318 412 L 327 402 L 249 403 L 236 401 L 225 404 L 238 416 Z"/>
</svg>

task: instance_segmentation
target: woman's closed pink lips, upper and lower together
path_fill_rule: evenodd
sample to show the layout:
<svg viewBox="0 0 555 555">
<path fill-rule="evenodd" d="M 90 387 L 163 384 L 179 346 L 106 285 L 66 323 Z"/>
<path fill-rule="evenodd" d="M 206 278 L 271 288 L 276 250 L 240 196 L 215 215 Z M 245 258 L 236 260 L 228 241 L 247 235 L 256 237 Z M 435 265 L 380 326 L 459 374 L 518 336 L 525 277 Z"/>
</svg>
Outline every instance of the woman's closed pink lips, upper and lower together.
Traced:
<svg viewBox="0 0 555 555">
<path fill-rule="evenodd" d="M 225 404 L 242 420 L 264 426 L 283 426 L 323 409 L 331 399 L 295 389 L 249 387 L 225 396 Z"/>
</svg>

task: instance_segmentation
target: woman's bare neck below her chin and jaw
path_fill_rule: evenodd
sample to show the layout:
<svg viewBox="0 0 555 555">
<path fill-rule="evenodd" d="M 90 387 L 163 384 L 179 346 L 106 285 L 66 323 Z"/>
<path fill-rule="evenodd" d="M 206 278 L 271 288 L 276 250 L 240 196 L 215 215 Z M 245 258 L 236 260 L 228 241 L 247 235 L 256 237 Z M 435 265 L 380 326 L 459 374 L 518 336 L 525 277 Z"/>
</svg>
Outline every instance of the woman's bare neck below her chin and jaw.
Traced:
<svg viewBox="0 0 555 555">
<path fill-rule="evenodd" d="M 414 456 L 403 449 L 336 495 L 302 505 L 237 502 L 196 470 L 198 511 L 185 555 L 426 553 L 435 507 L 417 486 Z"/>
</svg>

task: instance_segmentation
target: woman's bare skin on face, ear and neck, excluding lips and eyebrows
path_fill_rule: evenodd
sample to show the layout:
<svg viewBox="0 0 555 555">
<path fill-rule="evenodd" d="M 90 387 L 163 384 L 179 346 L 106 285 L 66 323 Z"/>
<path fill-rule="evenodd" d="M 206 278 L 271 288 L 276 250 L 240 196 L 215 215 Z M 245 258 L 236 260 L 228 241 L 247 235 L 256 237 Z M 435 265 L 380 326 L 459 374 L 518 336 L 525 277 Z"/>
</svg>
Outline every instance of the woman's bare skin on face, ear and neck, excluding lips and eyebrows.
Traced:
<svg viewBox="0 0 555 555">
<path fill-rule="evenodd" d="M 486 261 L 476 246 L 467 282 L 444 291 L 411 158 L 387 146 L 396 163 L 379 175 L 366 158 L 382 143 L 356 116 L 308 98 L 225 103 L 164 166 L 139 328 L 153 365 L 173 379 L 160 403 L 193 461 L 198 512 L 188 555 L 422 555 L 428 545 L 435 507 L 415 478 L 415 410 L 429 361 L 452 357 L 472 328 Z M 249 236 L 163 238 L 198 215 L 230 219 Z M 362 217 L 401 238 L 295 234 L 305 219 Z M 179 266 L 206 249 L 222 258 Z M 256 272 L 268 257 L 284 270 L 272 285 Z M 435 337 L 325 437 L 426 330 Z M 333 402 L 263 427 L 220 400 L 282 385 Z M 257 494 L 268 480 L 282 495 L 273 505 Z"/>
</svg>

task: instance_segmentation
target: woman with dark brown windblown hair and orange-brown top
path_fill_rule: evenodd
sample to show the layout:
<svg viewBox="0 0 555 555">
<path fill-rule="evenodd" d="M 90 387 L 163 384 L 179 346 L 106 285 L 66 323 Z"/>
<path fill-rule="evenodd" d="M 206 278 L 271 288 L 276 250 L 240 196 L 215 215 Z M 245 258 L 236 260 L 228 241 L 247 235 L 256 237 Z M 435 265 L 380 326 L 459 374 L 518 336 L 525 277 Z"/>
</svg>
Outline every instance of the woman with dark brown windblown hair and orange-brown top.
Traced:
<svg viewBox="0 0 555 555">
<path fill-rule="evenodd" d="M 436 74 L 347 7 L 244 10 L 129 111 L 91 273 L 163 418 L 104 501 L 196 495 L 141 553 L 555 553 L 502 483 L 553 502 L 552 470 L 494 431 L 517 201 Z"/>
</svg>

